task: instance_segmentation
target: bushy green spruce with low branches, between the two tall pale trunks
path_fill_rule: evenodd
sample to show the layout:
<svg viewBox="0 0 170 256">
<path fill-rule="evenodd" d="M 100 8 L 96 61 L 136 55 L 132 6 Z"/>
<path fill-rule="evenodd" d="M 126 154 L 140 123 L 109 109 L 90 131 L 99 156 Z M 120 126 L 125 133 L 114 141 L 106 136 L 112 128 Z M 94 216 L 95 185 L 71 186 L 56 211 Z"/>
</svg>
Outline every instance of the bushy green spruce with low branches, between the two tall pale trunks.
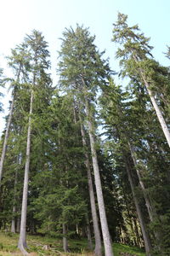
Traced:
<svg viewBox="0 0 170 256">
<path fill-rule="evenodd" d="M 86 187 L 82 166 L 82 143 L 79 124 L 74 123 L 72 98 L 54 94 L 48 107 L 48 142 L 46 162 L 34 177 L 38 196 L 31 202 L 38 231 L 68 239 L 75 236 L 76 226 L 84 221 L 88 203 L 83 196 Z M 46 133 L 47 135 L 47 133 Z M 62 233 L 62 234 L 61 234 Z"/>
</svg>

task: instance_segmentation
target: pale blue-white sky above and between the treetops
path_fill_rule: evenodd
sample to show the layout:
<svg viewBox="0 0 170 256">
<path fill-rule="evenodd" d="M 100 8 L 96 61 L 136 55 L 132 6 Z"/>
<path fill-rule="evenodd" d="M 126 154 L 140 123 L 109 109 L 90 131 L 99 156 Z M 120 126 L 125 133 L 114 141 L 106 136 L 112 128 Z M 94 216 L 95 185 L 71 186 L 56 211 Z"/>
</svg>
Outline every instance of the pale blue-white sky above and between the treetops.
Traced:
<svg viewBox="0 0 170 256">
<path fill-rule="evenodd" d="M 116 45 L 111 43 L 112 24 L 116 22 L 118 12 L 128 15 L 128 24 L 139 24 L 150 45 L 156 61 L 170 66 L 164 52 L 170 45 L 170 1 L 169 0 L 1 0 L 0 24 L 0 67 L 4 75 L 11 73 L 6 67 L 5 56 L 10 50 L 23 42 L 26 34 L 33 29 L 42 32 L 48 42 L 51 53 L 52 77 L 57 83 L 57 51 L 60 47 L 65 27 L 84 25 L 96 36 L 95 44 L 104 50 L 105 58 L 110 58 L 111 68 L 118 70 L 115 59 Z M 4 116 L 8 114 L 10 92 L 3 91 L 4 112 L 0 113 L 0 132 L 4 127 Z"/>
</svg>

